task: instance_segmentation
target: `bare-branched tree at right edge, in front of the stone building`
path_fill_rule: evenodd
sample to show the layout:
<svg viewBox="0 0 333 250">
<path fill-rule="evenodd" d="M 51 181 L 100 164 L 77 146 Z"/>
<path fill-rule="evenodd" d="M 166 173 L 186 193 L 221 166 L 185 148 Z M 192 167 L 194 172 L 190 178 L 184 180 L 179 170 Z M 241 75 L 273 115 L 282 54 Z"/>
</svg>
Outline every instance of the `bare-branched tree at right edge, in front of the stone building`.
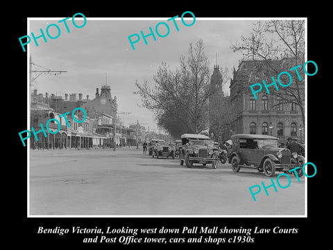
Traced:
<svg viewBox="0 0 333 250">
<path fill-rule="evenodd" d="M 264 60 L 266 83 L 275 79 L 282 71 L 289 71 L 292 83 L 288 87 L 270 88 L 270 94 L 277 97 L 279 104 L 293 103 L 300 108 L 303 124 L 305 124 L 305 72 L 298 67 L 301 80 L 296 70 L 291 68 L 305 63 L 305 21 L 304 20 L 271 20 L 257 22 L 248 38 L 241 37 L 241 41 L 232 44 L 234 51 L 241 51 L 244 58 L 250 60 Z M 277 65 L 274 60 L 287 58 L 283 65 Z M 263 71 L 264 72 L 264 71 Z M 289 77 L 281 77 L 284 85 L 289 83 Z M 272 81 L 272 80 L 271 80 Z M 263 88 L 264 89 L 264 88 Z"/>
</svg>

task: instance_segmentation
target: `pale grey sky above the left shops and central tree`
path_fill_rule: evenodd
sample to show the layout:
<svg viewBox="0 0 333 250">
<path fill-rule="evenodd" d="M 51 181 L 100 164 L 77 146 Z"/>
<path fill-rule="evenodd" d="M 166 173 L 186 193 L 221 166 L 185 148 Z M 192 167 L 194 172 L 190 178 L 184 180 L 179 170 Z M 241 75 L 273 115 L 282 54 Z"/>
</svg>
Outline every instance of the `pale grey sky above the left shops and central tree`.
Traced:
<svg viewBox="0 0 333 250">
<path fill-rule="evenodd" d="M 167 63 L 171 69 L 179 67 L 180 56 L 187 56 L 189 44 L 195 44 L 198 40 L 203 40 L 205 55 L 210 60 L 210 67 L 213 69 L 216 63 L 221 68 L 228 67 L 237 69 L 240 53 L 234 53 L 230 49 L 233 42 L 240 40 L 241 35 L 248 36 L 252 31 L 253 23 L 256 19 L 212 19 L 196 18 L 192 26 L 182 24 L 180 18 L 176 19 L 179 31 L 172 21 L 167 22 L 170 17 L 158 19 L 103 19 L 87 17 L 87 22 L 83 26 L 83 19 L 75 19 L 78 26 L 76 28 L 71 19 L 67 20 L 70 33 L 64 24 L 59 24 L 58 20 L 64 19 L 34 18 L 28 22 L 28 34 L 33 32 L 35 36 L 41 34 L 40 28 L 46 34 L 46 27 L 50 24 L 58 24 L 60 35 L 56 39 L 50 39 L 46 35 L 47 42 L 43 38 L 37 40 L 38 47 L 31 39 L 27 47 L 28 54 L 31 55 L 33 69 L 42 69 L 40 65 L 51 70 L 64 70 L 62 74 L 42 74 L 33 83 L 33 89 L 45 96 L 45 92 L 61 95 L 65 99 L 65 93 L 82 93 L 83 99 L 89 95 L 89 99 L 94 99 L 96 88 L 101 90 L 101 86 L 110 85 L 112 97 L 117 96 L 119 117 L 125 126 L 129 126 L 139 121 L 146 129 L 157 129 L 155 117 L 150 110 L 143 108 L 139 95 L 133 94 L 137 90 L 135 81 L 144 83 L 148 81 L 155 85 L 153 75 L 157 73 L 158 67 L 162 63 Z M 170 33 L 165 38 L 156 36 L 156 41 L 152 36 L 143 38 L 135 44 L 132 49 L 128 36 L 134 33 L 148 34 L 149 27 L 155 31 L 155 26 L 160 22 L 169 24 Z M 185 19 L 191 24 L 192 19 Z M 166 33 L 163 25 L 159 27 L 160 33 Z M 56 37 L 58 31 L 55 26 L 50 26 L 49 33 Z M 229 83 L 229 81 L 228 81 Z M 229 84 L 225 86 L 228 92 Z"/>
</svg>

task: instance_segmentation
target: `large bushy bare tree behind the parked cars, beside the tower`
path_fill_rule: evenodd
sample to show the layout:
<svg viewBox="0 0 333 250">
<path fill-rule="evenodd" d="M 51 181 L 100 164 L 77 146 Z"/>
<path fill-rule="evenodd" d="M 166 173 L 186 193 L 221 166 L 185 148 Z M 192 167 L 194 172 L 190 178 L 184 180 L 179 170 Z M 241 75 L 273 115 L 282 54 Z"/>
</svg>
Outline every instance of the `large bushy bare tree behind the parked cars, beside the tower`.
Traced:
<svg viewBox="0 0 333 250">
<path fill-rule="evenodd" d="M 189 44 L 187 58 L 180 57 L 180 68 L 171 71 L 162 63 L 153 76 L 154 88 L 147 81 L 135 83 L 135 94 L 141 95 L 143 106 L 155 113 L 158 124 L 171 135 L 200 133 L 209 126 L 210 76 L 203 41 L 199 40 L 195 47 Z"/>
</svg>

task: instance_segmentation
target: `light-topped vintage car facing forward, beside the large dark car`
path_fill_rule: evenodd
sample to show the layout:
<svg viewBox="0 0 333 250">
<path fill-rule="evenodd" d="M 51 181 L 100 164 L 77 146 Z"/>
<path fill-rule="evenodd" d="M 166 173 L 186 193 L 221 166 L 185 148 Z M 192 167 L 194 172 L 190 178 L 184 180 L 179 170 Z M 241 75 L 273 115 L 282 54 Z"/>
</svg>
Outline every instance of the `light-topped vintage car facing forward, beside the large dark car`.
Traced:
<svg viewBox="0 0 333 250">
<path fill-rule="evenodd" d="M 214 142 L 206 135 L 183 134 L 182 147 L 180 149 L 180 165 L 185 162 L 186 167 L 192 167 L 194 163 L 212 163 L 215 169 L 219 162 L 219 149 L 214 146 Z"/>
</svg>

